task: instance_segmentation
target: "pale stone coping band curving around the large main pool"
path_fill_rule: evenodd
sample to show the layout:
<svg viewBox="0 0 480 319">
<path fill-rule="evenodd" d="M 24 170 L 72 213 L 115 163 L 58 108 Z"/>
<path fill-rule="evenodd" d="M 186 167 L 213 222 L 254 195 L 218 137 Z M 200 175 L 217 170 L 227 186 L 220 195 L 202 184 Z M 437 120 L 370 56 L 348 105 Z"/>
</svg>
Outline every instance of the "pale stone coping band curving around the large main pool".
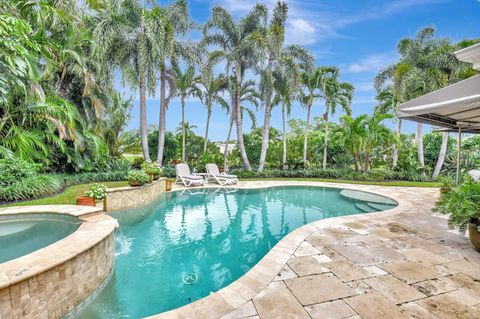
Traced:
<svg viewBox="0 0 480 319">
<path fill-rule="evenodd" d="M 286 265 L 289 258 L 294 254 L 300 244 L 310 235 L 327 227 L 341 225 L 346 222 L 358 222 L 371 218 L 382 218 L 388 216 L 407 213 L 412 210 L 412 203 L 408 198 L 408 192 L 401 190 L 412 190 L 411 187 L 397 186 L 376 186 L 376 185 L 360 185 L 360 184 L 343 184 L 343 183 L 325 183 L 314 181 L 247 181 L 239 182 L 235 186 L 226 186 L 224 188 L 269 188 L 275 186 L 317 186 L 352 189 L 372 194 L 377 194 L 397 202 L 397 206 L 380 211 L 358 215 L 346 215 L 333 218 L 314 221 L 300 228 L 295 229 L 291 233 L 282 238 L 255 266 L 253 266 L 242 277 L 238 278 L 228 286 L 211 293 L 209 296 L 201 298 L 197 301 L 184 305 L 182 307 L 149 316 L 149 319 L 200 319 L 200 318 L 220 318 L 232 311 L 238 309 L 245 303 L 252 300 L 256 295 L 267 287 Z M 217 185 L 207 185 L 206 188 L 218 188 Z M 174 191 L 187 189 L 185 187 L 176 187 Z M 199 189 L 199 188 L 189 188 Z M 201 189 L 201 188 L 200 188 Z M 416 188 L 420 189 L 420 188 Z M 399 191 L 400 190 L 400 191 Z M 432 192 L 438 192 L 436 188 L 428 188 Z"/>
</svg>

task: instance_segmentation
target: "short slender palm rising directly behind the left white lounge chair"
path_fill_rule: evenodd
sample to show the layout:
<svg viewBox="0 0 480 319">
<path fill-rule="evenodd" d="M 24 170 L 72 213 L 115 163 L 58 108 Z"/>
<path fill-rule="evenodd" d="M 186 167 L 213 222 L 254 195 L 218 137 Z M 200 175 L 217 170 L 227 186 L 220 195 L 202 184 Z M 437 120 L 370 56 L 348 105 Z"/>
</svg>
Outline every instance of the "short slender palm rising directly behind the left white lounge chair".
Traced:
<svg viewBox="0 0 480 319">
<path fill-rule="evenodd" d="M 182 161 L 185 162 L 185 99 L 188 97 L 200 97 L 202 92 L 198 87 L 200 77 L 195 75 L 195 68 L 189 66 L 187 70 L 182 73 L 179 67 L 174 66 L 175 71 L 175 87 L 177 88 L 176 95 L 180 97 L 180 104 L 182 106 Z"/>
</svg>

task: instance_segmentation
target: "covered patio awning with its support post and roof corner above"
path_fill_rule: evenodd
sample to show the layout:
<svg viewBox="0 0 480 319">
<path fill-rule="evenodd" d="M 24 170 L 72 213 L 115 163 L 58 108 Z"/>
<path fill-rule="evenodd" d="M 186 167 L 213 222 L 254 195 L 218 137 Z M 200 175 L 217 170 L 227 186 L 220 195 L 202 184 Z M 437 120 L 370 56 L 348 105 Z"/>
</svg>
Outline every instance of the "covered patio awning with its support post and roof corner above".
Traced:
<svg viewBox="0 0 480 319">
<path fill-rule="evenodd" d="M 455 55 L 480 71 L 480 43 L 457 51 Z M 431 124 L 434 130 L 458 133 L 458 184 L 462 133 L 480 133 L 480 75 L 403 103 L 398 106 L 397 116 Z"/>
</svg>

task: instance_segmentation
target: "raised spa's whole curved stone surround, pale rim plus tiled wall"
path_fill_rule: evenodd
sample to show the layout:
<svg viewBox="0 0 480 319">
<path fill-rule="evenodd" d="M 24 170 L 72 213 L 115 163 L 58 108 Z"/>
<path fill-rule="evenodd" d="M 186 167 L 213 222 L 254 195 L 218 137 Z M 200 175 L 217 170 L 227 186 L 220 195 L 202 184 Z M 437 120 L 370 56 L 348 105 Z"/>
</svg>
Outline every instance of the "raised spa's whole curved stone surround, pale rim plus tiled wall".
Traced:
<svg viewBox="0 0 480 319">
<path fill-rule="evenodd" d="M 0 215 L 36 213 L 73 216 L 81 225 L 51 245 L 0 263 L 0 317 L 59 318 L 87 298 L 113 269 L 118 227 L 114 218 L 89 206 L 0 208 Z"/>
</svg>

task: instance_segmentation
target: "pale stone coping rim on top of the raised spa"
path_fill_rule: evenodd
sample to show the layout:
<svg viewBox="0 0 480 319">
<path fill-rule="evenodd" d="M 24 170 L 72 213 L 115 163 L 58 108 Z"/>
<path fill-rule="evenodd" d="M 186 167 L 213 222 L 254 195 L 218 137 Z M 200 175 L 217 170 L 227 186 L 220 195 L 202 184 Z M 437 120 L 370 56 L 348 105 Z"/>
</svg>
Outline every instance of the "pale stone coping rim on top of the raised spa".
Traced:
<svg viewBox="0 0 480 319">
<path fill-rule="evenodd" d="M 72 234 L 28 255 L 0 263 L 0 290 L 43 273 L 92 248 L 118 227 L 117 220 L 97 207 L 36 205 L 0 208 L 0 215 L 61 214 L 77 217 L 80 227 Z"/>
</svg>

